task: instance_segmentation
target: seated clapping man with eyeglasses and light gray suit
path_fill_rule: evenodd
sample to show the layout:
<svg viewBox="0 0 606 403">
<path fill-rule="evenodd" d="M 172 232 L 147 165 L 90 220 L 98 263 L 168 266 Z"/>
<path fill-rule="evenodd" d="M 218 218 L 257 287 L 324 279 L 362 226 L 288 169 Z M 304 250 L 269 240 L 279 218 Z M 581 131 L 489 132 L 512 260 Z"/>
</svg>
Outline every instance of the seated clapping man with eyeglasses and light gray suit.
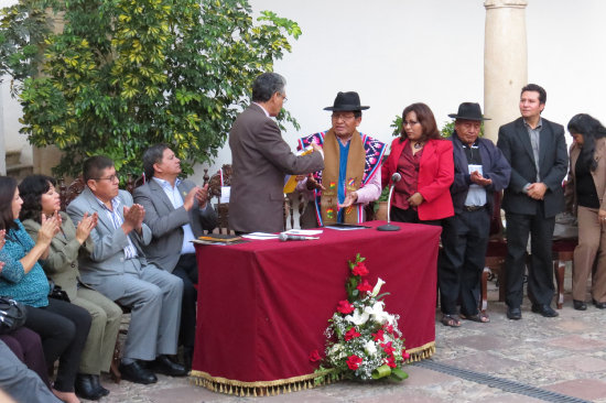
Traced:
<svg viewBox="0 0 606 403">
<path fill-rule="evenodd" d="M 83 280 L 111 301 L 131 308 L 120 372 L 136 383 L 154 383 L 154 372 L 184 377 L 176 355 L 183 281 L 145 260 L 143 246 L 152 233 L 143 224 L 145 209 L 118 188 L 113 161 L 91 156 L 84 162 L 87 187 L 67 207 L 75 224 L 85 213 L 99 215 L 90 232 L 94 251 L 79 258 Z M 144 361 L 151 361 L 145 363 Z"/>
</svg>

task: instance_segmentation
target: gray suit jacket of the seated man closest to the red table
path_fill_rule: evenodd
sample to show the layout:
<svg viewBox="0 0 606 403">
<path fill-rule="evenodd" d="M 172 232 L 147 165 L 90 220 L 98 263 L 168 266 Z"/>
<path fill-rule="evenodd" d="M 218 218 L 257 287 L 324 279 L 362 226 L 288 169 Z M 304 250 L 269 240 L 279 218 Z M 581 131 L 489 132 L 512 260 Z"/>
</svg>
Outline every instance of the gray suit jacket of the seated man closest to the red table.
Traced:
<svg viewBox="0 0 606 403">
<path fill-rule="evenodd" d="M 191 181 L 178 184 L 177 188 L 183 199 L 193 187 L 195 184 Z M 136 203 L 145 208 L 144 222 L 152 231 L 151 242 L 143 247 L 145 257 L 150 262 L 171 273 L 181 257 L 182 226 L 190 224 L 196 238 L 202 236 L 204 230 L 212 231 L 217 226 L 217 213 L 210 203 L 206 204 L 205 209 L 199 208 L 197 200 L 194 202 L 194 207 L 190 211 L 186 211 L 183 206 L 175 209 L 162 186 L 154 179 L 136 188 L 133 197 Z"/>
</svg>

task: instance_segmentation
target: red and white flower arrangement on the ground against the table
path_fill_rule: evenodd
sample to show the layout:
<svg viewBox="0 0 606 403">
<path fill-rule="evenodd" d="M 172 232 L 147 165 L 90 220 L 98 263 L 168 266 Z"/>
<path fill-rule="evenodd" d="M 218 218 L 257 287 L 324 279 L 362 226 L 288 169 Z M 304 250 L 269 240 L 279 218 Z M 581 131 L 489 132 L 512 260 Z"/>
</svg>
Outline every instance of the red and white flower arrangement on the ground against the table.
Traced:
<svg viewBox="0 0 606 403">
<path fill-rule="evenodd" d="M 317 372 L 333 368 L 348 379 L 377 380 L 408 378 L 401 367 L 410 357 L 404 339 L 398 329 L 398 315 L 385 311 L 382 301 L 389 293 L 379 294 L 385 281 L 378 279 L 375 286 L 368 283 L 366 258 L 358 253 L 348 261 L 350 275 L 345 284 L 347 299 L 339 301 L 328 320 L 325 355 L 317 350 L 311 361 L 321 361 Z"/>
</svg>

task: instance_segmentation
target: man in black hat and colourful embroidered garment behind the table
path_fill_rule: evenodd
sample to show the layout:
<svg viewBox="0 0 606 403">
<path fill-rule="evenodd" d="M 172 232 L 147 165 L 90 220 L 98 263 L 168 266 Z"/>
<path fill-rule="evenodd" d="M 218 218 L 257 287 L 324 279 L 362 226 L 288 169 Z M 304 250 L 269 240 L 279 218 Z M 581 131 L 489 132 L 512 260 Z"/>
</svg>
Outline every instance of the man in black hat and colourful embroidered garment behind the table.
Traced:
<svg viewBox="0 0 606 403">
<path fill-rule="evenodd" d="M 331 130 L 299 140 L 300 150 L 313 143 L 322 144 L 324 150 L 324 170 L 310 174 L 297 185 L 300 190 L 311 193 L 310 205 L 316 218 L 315 222 L 303 219 L 303 227 L 361 222 L 364 206 L 381 195 L 386 145 L 357 130 L 361 111 L 368 108 L 360 106 L 358 92 L 338 92 L 334 105 L 324 108 L 333 111 Z"/>
</svg>

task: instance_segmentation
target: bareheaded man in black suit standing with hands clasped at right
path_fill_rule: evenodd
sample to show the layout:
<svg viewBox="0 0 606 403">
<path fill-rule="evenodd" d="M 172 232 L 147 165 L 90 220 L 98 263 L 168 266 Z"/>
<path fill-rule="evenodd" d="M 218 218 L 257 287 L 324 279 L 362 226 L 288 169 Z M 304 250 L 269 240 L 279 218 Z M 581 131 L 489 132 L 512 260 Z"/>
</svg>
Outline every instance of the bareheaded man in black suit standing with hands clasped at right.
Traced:
<svg viewBox="0 0 606 403">
<path fill-rule="evenodd" d="M 535 85 L 522 88 L 521 118 L 499 129 L 497 146 L 511 164 L 502 208 L 507 219 L 507 317 L 520 319 L 528 236 L 531 262 L 528 295 L 532 312 L 558 316 L 553 298 L 551 243 L 555 215 L 564 209 L 562 181 L 567 171 L 564 128 L 541 118 L 547 92 Z"/>
</svg>

